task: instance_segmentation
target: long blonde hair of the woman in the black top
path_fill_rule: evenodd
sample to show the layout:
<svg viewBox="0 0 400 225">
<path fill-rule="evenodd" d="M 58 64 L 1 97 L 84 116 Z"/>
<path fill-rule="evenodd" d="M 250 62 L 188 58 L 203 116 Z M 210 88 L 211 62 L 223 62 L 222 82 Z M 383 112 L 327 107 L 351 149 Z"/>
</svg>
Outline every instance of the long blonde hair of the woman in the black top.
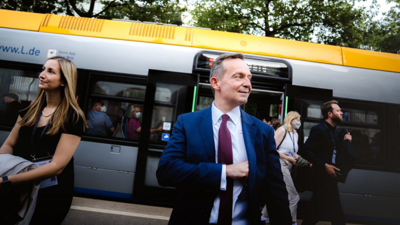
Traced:
<svg viewBox="0 0 400 225">
<path fill-rule="evenodd" d="M 58 65 L 60 66 L 61 80 L 64 82 L 65 86 L 62 87 L 64 92 L 61 91 L 61 102 L 57 106 L 53 117 L 50 118 L 49 129 L 46 132 L 46 135 L 55 135 L 58 131 L 63 129 L 65 131 L 65 123 L 68 119 L 68 112 L 70 108 L 73 111 L 73 121 L 74 123 L 78 122 L 79 117 L 82 117 L 84 123 L 84 129 L 88 127 L 88 123 L 85 119 L 85 115 L 80 109 L 78 105 L 78 101 L 76 100 L 76 83 L 77 83 L 77 71 L 75 64 L 64 57 L 54 56 L 48 58 L 48 60 L 57 60 Z M 46 92 L 42 89 L 39 89 L 36 99 L 28 106 L 28 112 L 22 121 L 20 121 L 21 126 L 32 127 L 36 123 L 36 119 L 41 113 L 42 107 L 46 103 Z M 71 123 L 72 121 L 70 121 Z"/>
</svg>

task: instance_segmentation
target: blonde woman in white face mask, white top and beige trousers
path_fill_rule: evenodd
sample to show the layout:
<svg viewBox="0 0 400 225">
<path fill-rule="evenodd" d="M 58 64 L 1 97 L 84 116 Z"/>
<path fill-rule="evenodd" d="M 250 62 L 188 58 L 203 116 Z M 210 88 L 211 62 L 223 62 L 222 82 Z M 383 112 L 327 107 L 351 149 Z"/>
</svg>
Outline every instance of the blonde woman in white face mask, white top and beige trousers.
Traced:
<svg viewBox="0 0 400 225">
<path fill-rule="evenodd" d="M 298 152 L 298 133 L 296 130 L 301 126 L 300 114 L 296 111 L 290 111 L 283 120 L 283 126 L 279 127 L 275 131 L 275 141 L 280 156 L 280 167 L 282 169 L 283 179 L 286 183 L 286 189 L 288 191 L 289 207 L 292 213 L 292 224 L 297 225 L 297 203 L 300 199 L 290 172 L 292 171 L 293 165 L 296 163 Z M 273 207 L 273 206 L 272 206 Z M 262 210 L 261 220 L 269 221 L 268 212 L 266 206 Z"/>
</svg>

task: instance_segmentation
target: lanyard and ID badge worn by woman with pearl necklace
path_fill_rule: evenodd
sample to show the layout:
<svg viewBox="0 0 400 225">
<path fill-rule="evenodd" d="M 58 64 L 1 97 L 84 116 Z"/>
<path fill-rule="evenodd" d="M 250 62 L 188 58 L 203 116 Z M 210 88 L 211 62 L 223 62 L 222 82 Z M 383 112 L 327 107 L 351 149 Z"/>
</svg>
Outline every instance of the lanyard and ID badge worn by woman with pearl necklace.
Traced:
<svg viewBox="0 0 400 225">
<path fill-rule="evenodd" d="M 34 163 L 37 167 L 41 167 L 42 165 L 46 165 L 46 164 L 50 163 L 53 160 L 53 156 L 50 155 L 49 153 L 47 153 L 48 156 L 42 157 L 42 158 L 38 158 L 38 159 L 36 159 L 35 155 L 33 154 L 34 135 L 35 135 L 36 128 L 38 127 L 38 123 L 40 121 L 40 117 L 41 117 L 41 115 L 39 113 L 38 118 L 36 118 L 36 123 L 35 123 L 35 125 L 33 127 L 32 136 L 31 136 L 31 139 L 30 139 L 30 149 L 31 149 L 31 153 L 32 153 L 31 157 L 33 158 L 32 159 L 32 163 Z M 53 117 L 51 119 L 53 119 Z M 50 125 L 50 120 L 48 121 L 48 123 L 44 127 L 44 129 L 42 131 L 42 134 L 40 135 L 40 140 L 42 140 L 43 135 L 46 132 L 46 130 L 47 130 L 49 125 Z M 42 183 L 40 183 L 39 189 L 45 188 L 45 187 L 54 186 L 54 185 L 58 185 L 57 176 L 50 177 L 49 179 L 46 179 L 46 180 L 42 181 Z"/>
</svg>

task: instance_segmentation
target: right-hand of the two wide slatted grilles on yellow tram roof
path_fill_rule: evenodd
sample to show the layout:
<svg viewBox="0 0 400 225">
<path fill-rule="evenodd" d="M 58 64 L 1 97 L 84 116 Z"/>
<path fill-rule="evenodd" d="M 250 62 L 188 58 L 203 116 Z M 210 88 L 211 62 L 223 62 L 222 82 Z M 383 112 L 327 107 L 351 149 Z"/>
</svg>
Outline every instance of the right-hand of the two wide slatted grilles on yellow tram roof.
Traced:
<svg viewBox="0 0 400 225">
<path fill-rule="evenodd" d="M 173 40 L 175 37 L 175 28 L 174 26 L 158 24 L 132 23 L 129 35 Z"/>
</svg>

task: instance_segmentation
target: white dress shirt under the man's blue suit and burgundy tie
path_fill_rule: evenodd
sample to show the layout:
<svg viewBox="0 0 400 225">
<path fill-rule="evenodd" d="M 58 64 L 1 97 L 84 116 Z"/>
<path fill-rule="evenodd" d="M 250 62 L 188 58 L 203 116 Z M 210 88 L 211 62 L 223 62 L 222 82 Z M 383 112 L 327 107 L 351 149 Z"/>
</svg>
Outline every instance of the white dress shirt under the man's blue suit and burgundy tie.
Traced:
<svg viewBox="0 0 400 225">
<path fill-rule="evenodd" d="M 234 108 L 232 111 L 226 113 L 230 117 L 227 122 L 230 136 L 232 138 L 232 154 L 233 163 L 241 163 L 247 161 L 246 147 L 244 145 L 243 131 L 242 131 L 242 120 L 240 115 L 239 106 Z M 214 144 L 215 144 L 215 161 L 218 163 L 218 133 L 220 125 L 222 123 L 222 115 L 224 113 L 219 110 L 212 102 L 211 116 L 212 116 L 212 128 L 214 132 Z M 226 190 L 226 165 L 222 165 L 221 173 L 221 190 Z M 240 201 L 238 196 L 243 189 L 243 184 L 240 179 L 235 179 L 233 183 L 233 205 L 232 205 L 232 225 L 246 225 L 250 224 L 249 218 L 246 217 L 246 210 L 248 209 L 247 199 Z M 214 200 L 214 206 L 212 207 L 209 223 L 218 222 L 218 210 L 220 206 L 220 195 L 218 194 Z"/>
</svg>

